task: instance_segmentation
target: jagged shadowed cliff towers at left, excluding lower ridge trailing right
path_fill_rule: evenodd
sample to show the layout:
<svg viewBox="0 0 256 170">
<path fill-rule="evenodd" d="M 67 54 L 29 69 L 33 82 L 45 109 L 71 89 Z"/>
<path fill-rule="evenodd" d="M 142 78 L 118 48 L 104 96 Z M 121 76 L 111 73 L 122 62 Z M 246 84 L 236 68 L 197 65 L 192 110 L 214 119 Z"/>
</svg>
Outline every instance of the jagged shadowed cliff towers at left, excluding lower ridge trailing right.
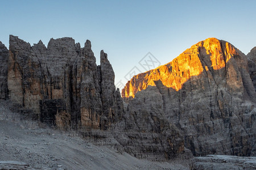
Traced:
<svg viewBox="0 0 256 170">
<path fill-rule="evenodd" d="M 123 107 L 112 66 L 102 51 L 103 57 L 97 67 L 89 40 L 80 48 L 72 38 L 51 39 L 46 48 L 42 41 L 30 46 L 10 36 L 10 99 L 28 116 L 60 129 L 106 130 Z M 106 73 L 109 77 L 102 76 Z"/>
</svg>

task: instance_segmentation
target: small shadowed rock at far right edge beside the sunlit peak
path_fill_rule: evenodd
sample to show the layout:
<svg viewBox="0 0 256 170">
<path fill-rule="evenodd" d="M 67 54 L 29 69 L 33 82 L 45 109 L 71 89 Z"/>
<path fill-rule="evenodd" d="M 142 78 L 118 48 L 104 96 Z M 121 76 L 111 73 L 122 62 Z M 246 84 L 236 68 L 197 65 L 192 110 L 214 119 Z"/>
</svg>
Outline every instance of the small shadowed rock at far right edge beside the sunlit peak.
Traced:
<svg viewBox="0 0 256 170">
<path fill-rule="evenodd" d="M 256 46 L 247 54 L 250 78 L 256 91 Z"/>
</svg>

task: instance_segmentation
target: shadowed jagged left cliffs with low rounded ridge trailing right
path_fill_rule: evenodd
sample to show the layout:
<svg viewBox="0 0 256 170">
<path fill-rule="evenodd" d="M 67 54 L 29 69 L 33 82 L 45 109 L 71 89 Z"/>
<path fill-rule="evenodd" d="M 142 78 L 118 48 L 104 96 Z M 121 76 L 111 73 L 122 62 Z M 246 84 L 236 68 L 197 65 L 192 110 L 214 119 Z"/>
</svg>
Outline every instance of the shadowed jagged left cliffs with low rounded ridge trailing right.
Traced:
<svg viewBox="0 0 256 170">
<path fill-rule="evenodd" d="M 183 136 L 162 114 L 123 105 L 107 54 L 101 51 L 97 66 L 89 40 L 81 48 L 72 38 L 51 39 L 46 48 L 10 35 L 9 54 L 0 48 L 1 98 L 23 117 L 137 158 L 166 160 L 184 152 Z"/>
</svg>

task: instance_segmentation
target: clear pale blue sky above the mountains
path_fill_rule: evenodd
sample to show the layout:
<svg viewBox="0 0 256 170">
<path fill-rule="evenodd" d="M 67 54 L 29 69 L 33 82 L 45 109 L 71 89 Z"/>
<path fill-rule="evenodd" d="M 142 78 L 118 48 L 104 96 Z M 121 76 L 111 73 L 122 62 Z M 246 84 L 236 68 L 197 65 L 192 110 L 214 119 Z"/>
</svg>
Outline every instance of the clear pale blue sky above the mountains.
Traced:
<svg viewBox="0 0 256 170">
<path fill-rule="evenodd" d="M 51 38 L 88 39 L 97 65 L 108 53 L 115 85 L 154 69 L 208 37 L 247 54 L 256 46 L 256 1 L 0 1 L 0 41 L 9 35 L 31 45 Z"/>
</svg>

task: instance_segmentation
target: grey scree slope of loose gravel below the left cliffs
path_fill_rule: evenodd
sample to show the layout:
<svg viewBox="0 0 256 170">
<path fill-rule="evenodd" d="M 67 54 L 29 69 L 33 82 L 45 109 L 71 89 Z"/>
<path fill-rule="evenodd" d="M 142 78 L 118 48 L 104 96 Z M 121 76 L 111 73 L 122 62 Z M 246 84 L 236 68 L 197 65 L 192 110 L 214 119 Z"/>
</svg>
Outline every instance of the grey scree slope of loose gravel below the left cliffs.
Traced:
<svg viewBox="0 0 256 170">
<path fill-rule="evenodd" d="M 137 159 L 85 141 L 76 131 L 20 120 L 7 106 L 1 100 L 0 169 L 189 169 L 189 156 L 169 162 Z"/>
</svg>

